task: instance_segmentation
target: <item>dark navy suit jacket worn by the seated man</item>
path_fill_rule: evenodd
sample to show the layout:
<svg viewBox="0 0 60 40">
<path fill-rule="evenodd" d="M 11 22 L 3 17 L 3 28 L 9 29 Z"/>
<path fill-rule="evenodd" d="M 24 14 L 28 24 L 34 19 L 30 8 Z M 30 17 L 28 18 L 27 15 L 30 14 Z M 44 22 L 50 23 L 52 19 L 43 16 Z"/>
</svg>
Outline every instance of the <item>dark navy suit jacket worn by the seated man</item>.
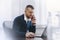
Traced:
<svg viewBox="0 0 60 40">
<path fill-rule="evenodd" d="M 24 20 L 24 14 L 15 18 L 13 22 L 13 30 L 21 34 L 27 32 L 27 24 L 26 21 Z M 35 33 L 35 30 L 36 27 L 33 25 L 29 28 L 29 32 Z"/>
</svg>

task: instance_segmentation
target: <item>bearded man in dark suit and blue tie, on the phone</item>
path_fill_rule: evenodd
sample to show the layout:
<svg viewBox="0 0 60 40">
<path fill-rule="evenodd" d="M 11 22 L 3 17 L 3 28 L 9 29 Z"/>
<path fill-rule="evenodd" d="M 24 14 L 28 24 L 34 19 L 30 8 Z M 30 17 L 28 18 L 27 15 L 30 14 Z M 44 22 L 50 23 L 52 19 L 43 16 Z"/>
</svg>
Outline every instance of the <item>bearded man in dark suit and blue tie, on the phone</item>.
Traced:
<svg viewBox="0 0 60 40">
<path fill-rule="evenodd" d="M 26 37 L 34 37 L 36 31 L 36 19 L 33 15 L 34 7 L 32 5 L 27 5 L 25 8 L 25 13 L 21 16 L 15 18 L 13 23 L 13 30 L 17 33 L 23 35 L 25 33 Z"/>
</svg>

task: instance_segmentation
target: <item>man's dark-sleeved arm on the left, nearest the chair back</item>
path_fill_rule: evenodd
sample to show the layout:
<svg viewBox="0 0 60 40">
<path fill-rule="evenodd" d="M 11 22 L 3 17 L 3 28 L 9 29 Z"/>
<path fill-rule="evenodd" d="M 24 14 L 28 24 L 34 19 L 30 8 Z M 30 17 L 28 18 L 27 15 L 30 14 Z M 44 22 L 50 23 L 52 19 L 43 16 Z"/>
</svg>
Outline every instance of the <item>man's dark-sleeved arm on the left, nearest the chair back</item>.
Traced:
<svg viewBox="0 0 60 40">
<path fill-rule="evenodd" d="M 24 36 L 25 32 L 20 32 L 21 24 L 19 22 L 20 22 L 20 20 L 18 18 L 15 18 L 15 20 L 13 22 L 14 34 L 17 35 L 17 36 L 21 36 L 21 35 Z"/>
</svg>

